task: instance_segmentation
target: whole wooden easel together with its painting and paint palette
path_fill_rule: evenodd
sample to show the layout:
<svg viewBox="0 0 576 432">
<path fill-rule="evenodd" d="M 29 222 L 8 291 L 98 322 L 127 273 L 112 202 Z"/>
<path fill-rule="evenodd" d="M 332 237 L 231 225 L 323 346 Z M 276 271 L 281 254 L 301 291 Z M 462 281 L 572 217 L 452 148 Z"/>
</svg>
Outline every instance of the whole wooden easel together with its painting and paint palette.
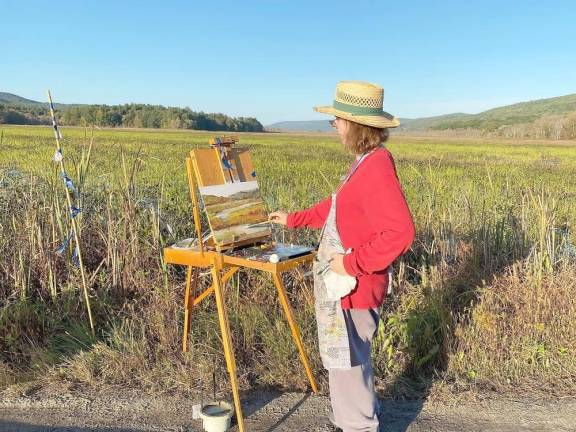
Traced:
<svg viewBox="0 0 576 432">
<path fill-rule="evenodd" d="M 317 392 L 318 388 L 281 278 L 283 272 L 311 263 L 314 258 L 313 249 L 273 241 L 250 153 L 245 149 L 232 148 L 236 141 L 230 137 L 227 140 L 218 138 L 211 142 L 212 148 L 190 152 L 186 168 L 197 238 L 165 248 L 164 262 L 188 267 L 184 293 L 183 351 L 188 349 L 192 308 L 211 295 L 216 300 L 238 428 L 244 432 L 224 291 L 226 282 L 239 269 L 258 270 L 272 276 L 312 391 Z M 209 237 L 202 235 L 200 202 L 204 204 L 210 224 Z M 199 268 L 209 268 L 212 276 L 211 286 L 201 293 L 196 292 Z"/>
</svg>

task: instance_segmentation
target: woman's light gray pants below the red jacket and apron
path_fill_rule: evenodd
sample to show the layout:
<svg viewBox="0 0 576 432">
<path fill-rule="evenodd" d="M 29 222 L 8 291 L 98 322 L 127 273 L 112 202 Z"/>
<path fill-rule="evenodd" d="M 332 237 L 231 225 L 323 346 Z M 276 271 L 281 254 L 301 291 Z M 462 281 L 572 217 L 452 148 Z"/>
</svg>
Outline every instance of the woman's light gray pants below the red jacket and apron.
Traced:
<svg viewBox="0 0 576 432">
<path fill-rule="evenodd" d="M 344 310 L 352 368 L 330 369 L 330 401 L 334 423 L 344 432 L 377 432 L 377 398 L 370 348 L 378 328 L 378 309 Z"/>
</svg>

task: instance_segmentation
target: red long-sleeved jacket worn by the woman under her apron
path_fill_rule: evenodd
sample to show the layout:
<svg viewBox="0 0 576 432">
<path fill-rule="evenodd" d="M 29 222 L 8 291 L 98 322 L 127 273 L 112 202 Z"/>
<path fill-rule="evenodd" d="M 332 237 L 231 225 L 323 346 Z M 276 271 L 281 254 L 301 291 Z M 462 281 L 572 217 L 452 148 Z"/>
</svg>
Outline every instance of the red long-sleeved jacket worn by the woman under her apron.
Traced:
<svg viewBox="0 0 576 432">
<path fill-rule="evenodd" d="M 322 228 L 331 198 L 288 215 L 289 228 Z M 414 223 L 396 174 L 394 159 L 379 148 L 366 156 L 336 199 L 336 226 L 344 249 L 344 268 L 356 288 L 342 297 L 343 309 L 379 307 L 388 287 L 387 267 L 408 250 Z"/>
</svg>

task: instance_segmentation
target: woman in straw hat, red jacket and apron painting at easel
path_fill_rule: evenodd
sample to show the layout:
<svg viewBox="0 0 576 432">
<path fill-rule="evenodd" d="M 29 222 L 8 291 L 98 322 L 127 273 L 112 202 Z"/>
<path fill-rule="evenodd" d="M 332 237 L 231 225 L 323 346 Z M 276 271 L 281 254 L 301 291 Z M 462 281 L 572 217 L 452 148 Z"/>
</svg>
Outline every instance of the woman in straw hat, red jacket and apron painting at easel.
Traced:
<svg viewBox="0 0 576 432">
<path fill-rule="evenodd" d="M 332 114 L 344 147 L 355 155 L 331 197 L 294 212 L 275 211 L 272 222 L 322 228 L 314 264 L 320 354 L 328 369 L 332 423 L 344 432 L 378 430 L 371 342 L 386 297 L 388 267 L 408 250 L 414 224 L 394 160 L 383 144 L 399 122 L 382 110 L 381 87 L 342 81 Z"/>
</svg>

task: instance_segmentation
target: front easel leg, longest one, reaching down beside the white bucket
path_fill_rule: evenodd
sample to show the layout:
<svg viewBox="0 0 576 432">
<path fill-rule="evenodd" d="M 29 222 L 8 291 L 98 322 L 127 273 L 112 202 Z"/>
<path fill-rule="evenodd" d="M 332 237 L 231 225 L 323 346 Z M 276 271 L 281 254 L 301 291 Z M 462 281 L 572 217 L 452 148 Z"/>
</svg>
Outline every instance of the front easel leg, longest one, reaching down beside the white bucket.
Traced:
<svg viewBox="0 0 576 432">
<path fill-rule="evenodd" d="M 234 357 L 234 348 L 232 347 L 232 338 L 230 337 L 230 325 L 228 323 L 228 315 L 226 314 L 222 281 L 220 279 L 220 272 L 216 266 L 212 267 L 212 284 L 214 286 L 214 296 L 216 297 L 216 307 L 218 308 L 218 320 L 220 322 L 220 331 L 222 332 L 224 356 L 226 357 L 226 366 L 228 367 L 232 394 L 234 396 L 234 408 L 236 410 L 236 419 L 238 420 L 238 429 L 240 432 L 244 432 L 244 417 L 242 415 L 238 381 L 236 379 L 236 359 Z"/>
</svg>

